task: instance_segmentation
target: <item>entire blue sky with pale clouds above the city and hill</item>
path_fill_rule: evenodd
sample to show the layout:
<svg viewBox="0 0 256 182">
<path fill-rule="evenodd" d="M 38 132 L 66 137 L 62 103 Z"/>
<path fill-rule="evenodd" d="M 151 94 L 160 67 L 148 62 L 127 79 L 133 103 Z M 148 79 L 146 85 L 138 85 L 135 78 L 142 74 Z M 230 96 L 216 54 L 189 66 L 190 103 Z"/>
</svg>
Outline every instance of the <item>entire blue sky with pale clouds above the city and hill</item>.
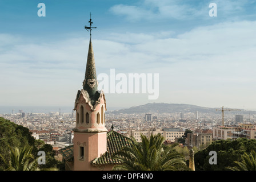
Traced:
<svg viewBox="0 0 256 182">
<path fill-rule="evenodd" d="M 46 16 L 38 16 L 38 3 Z M 209 15 L 210 3 L 217 16 Z M 0 105 L 74 105 L 90 12 L 97 75 L 159 74 L 157 100 L 109 92 L 107 107 L 165 102 L 256 110 L 253 0 L 1 0 Z"/>
</svg>

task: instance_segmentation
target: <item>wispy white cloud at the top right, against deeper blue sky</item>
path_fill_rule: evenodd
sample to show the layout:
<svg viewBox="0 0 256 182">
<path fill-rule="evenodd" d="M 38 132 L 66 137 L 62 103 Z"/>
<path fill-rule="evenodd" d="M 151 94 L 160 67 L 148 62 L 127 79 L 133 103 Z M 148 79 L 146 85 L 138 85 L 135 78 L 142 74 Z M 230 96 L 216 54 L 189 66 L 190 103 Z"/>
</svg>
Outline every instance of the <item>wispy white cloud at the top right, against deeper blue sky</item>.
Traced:
<svg viewBox="0 0 256 182">
<path fill-rule="evenodd" d="M 253 1 L 212 1 L 217 4 L 219 16 L 223 20 L 242 19 L 253 13 Z M 174 1 L 174 0 L 143 0 L 136 5 L 119 4 L 110 8 L 115 15 L 125 16 L 127 20 L 175 19 L 175 20 L 207 20 L 209 19 L 209 5 L 211 2 L 203 1 Z M 254 13 L 253 13 L 254 14 Z"/>
</svg>

